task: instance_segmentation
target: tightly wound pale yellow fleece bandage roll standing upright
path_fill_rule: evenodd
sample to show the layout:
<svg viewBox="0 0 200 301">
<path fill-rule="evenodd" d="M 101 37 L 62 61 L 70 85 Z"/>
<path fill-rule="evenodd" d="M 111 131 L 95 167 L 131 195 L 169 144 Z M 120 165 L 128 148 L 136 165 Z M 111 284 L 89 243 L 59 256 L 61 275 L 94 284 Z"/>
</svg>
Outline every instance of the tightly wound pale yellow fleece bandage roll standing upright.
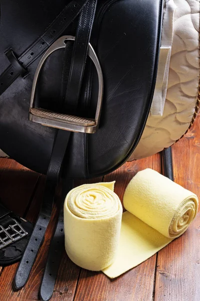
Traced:
<svg viewBox="0 0 200 301">
<path fill-rule="evenodd" d="M 74 263 L 89 270 L 101 270 L 115 259 L 122 205 L 114 183 L 81 185 L 65 200 L 66 252 Z"/>
</svg>

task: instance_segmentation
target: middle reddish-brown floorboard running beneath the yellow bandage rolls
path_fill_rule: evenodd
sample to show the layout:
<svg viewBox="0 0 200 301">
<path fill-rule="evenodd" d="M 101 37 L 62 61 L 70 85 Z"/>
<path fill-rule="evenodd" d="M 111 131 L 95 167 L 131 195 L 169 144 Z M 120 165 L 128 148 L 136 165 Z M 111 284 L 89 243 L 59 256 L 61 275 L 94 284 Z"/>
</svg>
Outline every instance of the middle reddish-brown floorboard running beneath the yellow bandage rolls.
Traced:
<svg viewBox="0 0 200 301">
<path fill-rule="evenodd" d="M 115 192 L 120 199 L 132 177 L 145 168 L 160 172 L 160 156 L 129 162 L 104 181 L 116 181 Z M 151 301 L 154 287 L 156 255 L 116 279 L 109 279 L 101 272 L 81 269 L 75 301 Z M 64 299 L 63 299 L 64 300 Z"/>
</svg>

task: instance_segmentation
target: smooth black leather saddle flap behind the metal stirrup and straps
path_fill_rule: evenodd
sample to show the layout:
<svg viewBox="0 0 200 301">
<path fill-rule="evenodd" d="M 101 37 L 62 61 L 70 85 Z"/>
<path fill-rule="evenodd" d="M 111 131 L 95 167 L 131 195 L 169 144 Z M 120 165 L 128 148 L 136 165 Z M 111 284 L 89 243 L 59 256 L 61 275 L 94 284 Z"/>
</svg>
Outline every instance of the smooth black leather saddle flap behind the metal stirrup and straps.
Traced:
<svg viewBox="0 0 200 301">
<path fill-rule="evenodd" d="M 3 15 L 6 14 L 6 1 L 2 3 Z M 23 5 L 23 1 L 18 2 L 16 19 L 22 17 L 20 7 Z M 34 6 L 36 11 L 40 11 L 41 2 L 35 2 Z M 4 31 L 6 21 L 3 27 L 1 24 L 0 39 L 4 42 L 0 57 L 4 63 L 0 72 L 9 65 L 4 55 L 5 49 L 12 47 L 20 55 L 42 34 L 58 15 L 57 10 L 61 11 L 65 4 L 59 0 L 56 5 L 54 2 L 43 2 L 43 6 L 43 10 L 50 11 L 51 14 L 44 14 L 41 27 L 33 26 L 32 30 L 27 27 L 25 31 L 24 19 L 19 26 L 16 24 L 16 31 L 23 33 L 25 40 L 28 36 L 26 47 L 21 41 L 17 49 L 17 42 L 9 36 L 11 33 L 13 35 L 14 29 Z M 54 11 L 55 6 L 57 9 Z M 30 11 L 23 18 L 32 20 L 29 16 L 31 14 Z M 5 15 L 5 20 L 6 17 Z M 99 2 L 91 44 L 100 61 L 104 77 L 100 126 L 95 134 L 72 134 L 64 163 L 68 177 L 91 178 L 104 175 L 127 161 L 133 152 L 143 131 L 153 96 L 161 18 L 162 1 Z M 69 28 L 64 34 L 71 35 L 73 31 Z M 46 174 L 56 129 L 28 120 L 31 88 L 39 59 L 29 66 L 30 75 L 26 79 L 19 77 L 0 97 L 0 141 L 4 152 L 13 159 L 32 170 Z M 62 51 L 57 51 L 48 58 L 42 70 L 37 97 L 47 108 L 55 108 L 61 101 L 59 91 L 62 60 Z M 96 109 L 97 78 L 89 60 L 85 73 L 77 114 L 84 113 L 83 117 L 91 117 Z"/>
</svg>

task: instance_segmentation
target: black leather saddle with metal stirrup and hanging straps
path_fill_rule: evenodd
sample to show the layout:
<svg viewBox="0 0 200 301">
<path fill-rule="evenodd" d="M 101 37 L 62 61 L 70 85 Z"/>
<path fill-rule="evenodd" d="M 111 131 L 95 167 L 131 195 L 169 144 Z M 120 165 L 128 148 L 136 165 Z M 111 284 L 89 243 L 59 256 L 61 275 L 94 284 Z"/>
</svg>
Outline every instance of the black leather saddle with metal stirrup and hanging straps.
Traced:
<svg viewBox="0 0 200 301">
<path fill-rule="evenodd" d="M 0 146 L 47 174 L 16 288 L 37 256 L 60 175 L 65 198 L 70 179 L 108 174 L 136 147 L 154 92 L 162 10 L 162 0 L 1 0 Z M 43 300 L 51 297 L 58 271 L 55 242 L 64 245 L 62 210 Z"/>
</svg>

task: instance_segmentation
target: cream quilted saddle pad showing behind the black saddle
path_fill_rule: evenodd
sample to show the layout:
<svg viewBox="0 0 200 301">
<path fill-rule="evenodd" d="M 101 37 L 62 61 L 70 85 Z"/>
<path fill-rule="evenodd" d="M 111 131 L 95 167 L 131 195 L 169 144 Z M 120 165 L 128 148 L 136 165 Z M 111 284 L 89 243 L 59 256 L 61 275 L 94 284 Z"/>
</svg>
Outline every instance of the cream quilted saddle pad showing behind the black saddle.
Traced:
<svg viewBox="0 0 200 301">
<path fill-rule="evenodd" d="M 179 139 L 194 114 L 199 85 L 199 0 L 174 0 L 174 34 L 163 116 L 149 114 L 129 161 L 160 152 Z"/>
</svg>

